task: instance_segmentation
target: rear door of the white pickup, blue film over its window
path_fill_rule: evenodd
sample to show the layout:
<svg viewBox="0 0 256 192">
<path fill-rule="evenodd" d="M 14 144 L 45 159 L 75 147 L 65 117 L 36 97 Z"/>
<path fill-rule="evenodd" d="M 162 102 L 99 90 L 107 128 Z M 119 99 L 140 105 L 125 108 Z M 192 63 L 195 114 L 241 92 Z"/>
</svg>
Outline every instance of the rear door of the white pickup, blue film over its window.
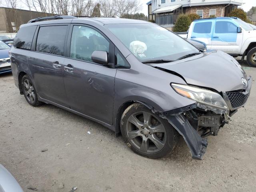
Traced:
<svg viewBox="0 0 256 192">
<path fill-rule="evenodd" d="M 212 31 L 214 20 L 198 20 L 192 22 L 188 39 L 204 42 L 208 49 L 212 48 Z"/>
</svg>

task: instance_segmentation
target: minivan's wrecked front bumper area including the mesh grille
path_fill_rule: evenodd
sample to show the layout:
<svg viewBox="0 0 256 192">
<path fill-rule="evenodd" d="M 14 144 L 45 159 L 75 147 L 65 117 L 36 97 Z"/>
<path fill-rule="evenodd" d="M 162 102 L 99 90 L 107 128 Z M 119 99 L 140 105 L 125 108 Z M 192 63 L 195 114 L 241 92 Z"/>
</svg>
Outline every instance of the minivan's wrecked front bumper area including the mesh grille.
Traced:
<svg viewBox="0 0 256 192">
<path fill-rule="evenodd" d="M 205 137 L 218 135 L 219 129 L 231 120 L 237 109 L 246 104 L 252 87 L 252 78 L 249 77 L 247 80 L 246 89 L 221 93 L 228 106 L 227 110 L 213 109 L 195 102 L 160 114 L 183 136 L 192 158 L 202 160 L 207 147 Z"/>
</svg>

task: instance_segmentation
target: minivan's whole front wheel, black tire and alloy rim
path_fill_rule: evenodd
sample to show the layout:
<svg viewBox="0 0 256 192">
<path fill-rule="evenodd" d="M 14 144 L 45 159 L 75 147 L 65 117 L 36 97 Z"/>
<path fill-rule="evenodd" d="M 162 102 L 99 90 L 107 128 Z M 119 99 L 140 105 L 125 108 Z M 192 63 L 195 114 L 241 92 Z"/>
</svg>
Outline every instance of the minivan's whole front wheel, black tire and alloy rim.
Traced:
<svg viewBox="0 0 256 192">
<path fill-rule="evenodd" d="M 178 132 L 167 120 L 138 102 L 124 111 L 120 125 L 126 144 L 141 156 L 161 158 L 176 146 Z"/>
</svg>

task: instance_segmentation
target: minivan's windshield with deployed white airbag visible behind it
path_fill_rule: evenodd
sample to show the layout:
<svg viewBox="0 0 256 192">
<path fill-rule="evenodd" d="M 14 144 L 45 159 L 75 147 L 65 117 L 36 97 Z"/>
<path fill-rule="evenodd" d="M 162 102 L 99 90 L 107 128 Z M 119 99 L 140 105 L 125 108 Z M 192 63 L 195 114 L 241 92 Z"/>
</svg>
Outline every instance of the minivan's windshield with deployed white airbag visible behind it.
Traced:
<svg viewBox="0 0 256 192">
<path fill-rule="evenodd" d="M 141 62 L 176 60 L 199 52 L 183 38 L 156 24 L 105 25 Z"/>
</svg>

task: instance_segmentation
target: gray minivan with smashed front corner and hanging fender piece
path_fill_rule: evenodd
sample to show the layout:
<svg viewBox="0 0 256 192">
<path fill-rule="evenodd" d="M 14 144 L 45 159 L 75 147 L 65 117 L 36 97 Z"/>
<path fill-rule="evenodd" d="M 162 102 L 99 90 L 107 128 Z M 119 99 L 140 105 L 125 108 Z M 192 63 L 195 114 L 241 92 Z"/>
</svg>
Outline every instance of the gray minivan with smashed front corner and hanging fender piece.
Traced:
<svg viewBox="0 0 256 192">
<path fill-rule="evenodd" d="M 160 158 L 179 135 L 202 159 L 250 94 L 252 78 L 221 51 L 202 52 L 156 24 L 54 16 L 20 26 L 12 74 L 32 106 L 48 103 L 96 121 L 136 153 Z"/>
</svg>

